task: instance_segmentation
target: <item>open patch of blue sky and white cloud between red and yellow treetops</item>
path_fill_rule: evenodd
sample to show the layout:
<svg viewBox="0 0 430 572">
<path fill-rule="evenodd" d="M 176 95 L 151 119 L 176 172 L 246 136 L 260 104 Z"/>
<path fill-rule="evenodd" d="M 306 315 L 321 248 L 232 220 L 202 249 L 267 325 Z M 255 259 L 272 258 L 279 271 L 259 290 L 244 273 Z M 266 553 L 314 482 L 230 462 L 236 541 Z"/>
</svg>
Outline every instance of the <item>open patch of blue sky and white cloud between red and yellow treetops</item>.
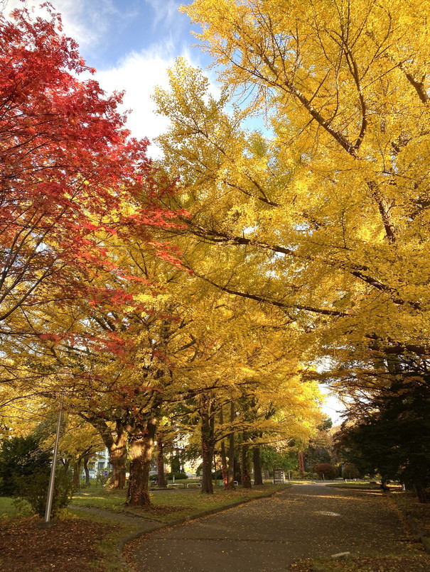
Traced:
<svg viewBox="0 0 430 572">
<path fill-rule="evenodd" d="M 26 0 L 40 13 L 42 0 Z M 95 79 L 108 93 L 125 90 L 124 109 L 131 109 L 128 127 L 136 137 L 150 140 L 165 131 L 167 122 L 154 114 L 151 94 L 167 86 L 166 69 L 184 56 L 205 69 L 210 59 L 199 48 L 190 18 L 179 11 L 191 0 L 50 0 L 63 17 L 64 31 L 77 40 Z M 20 6 L 9 0 L 6 11 Z M 213 72 L 208 72 L 215 84 Z M 150 155 L 158 156 L 156 145 Z"/>
</svg>

